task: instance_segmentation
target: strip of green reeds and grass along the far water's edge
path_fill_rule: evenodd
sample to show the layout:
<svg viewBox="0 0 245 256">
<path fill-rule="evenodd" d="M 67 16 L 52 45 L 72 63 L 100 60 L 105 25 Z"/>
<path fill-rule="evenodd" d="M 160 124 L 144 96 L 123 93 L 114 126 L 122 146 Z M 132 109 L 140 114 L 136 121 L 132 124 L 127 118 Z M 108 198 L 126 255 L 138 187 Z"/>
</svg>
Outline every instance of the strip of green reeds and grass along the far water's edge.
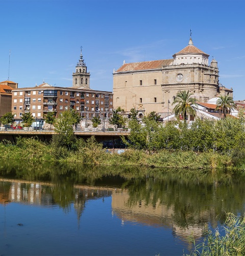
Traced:
<svg viewBox="0 0 245 256">
<path fill-rule="evenodd" d="M 245 169 L 243 152 L 219 154 L 214 152 L 160 150 L 149 154 L 143 150 L 128 149 L 111 153 L 94 138 L 78 141 L 76 148 L 68 150 L 54 143 L 47 144 L 35 138 L 19 138 L 15 144 L 0 143 L 1 158 L 30 162 L 59 162 L 77 165 L 146 166 L 188 169 Z"/>
</svg>

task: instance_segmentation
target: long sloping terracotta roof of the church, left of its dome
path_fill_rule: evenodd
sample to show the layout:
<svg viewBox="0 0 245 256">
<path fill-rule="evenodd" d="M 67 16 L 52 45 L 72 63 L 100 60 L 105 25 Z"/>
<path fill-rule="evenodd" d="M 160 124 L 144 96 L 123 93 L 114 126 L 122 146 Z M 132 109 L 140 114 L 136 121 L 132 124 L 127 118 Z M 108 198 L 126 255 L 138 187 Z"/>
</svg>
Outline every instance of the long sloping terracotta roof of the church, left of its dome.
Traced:
<svg viewBox="0 0 245 256">
<path fill-rule="evenodd" d="M 161 69 L 162 66 L 170 65 L 173 59 L 161 59 L 143 62 L 125 63 L 116 72 Z"/>
</svg>

